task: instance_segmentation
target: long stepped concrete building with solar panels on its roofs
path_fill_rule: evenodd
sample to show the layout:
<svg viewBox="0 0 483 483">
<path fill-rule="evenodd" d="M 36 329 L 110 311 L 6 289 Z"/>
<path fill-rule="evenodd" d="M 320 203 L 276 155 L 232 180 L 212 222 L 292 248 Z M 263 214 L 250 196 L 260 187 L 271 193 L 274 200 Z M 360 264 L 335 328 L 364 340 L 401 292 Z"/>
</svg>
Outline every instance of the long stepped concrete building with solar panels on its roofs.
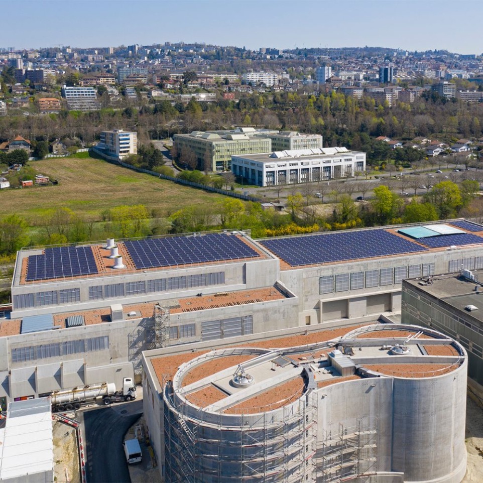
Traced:
<svg viewBox="0 0 483 483">
<path fill-rule="evenodd" d="M 466 223 L 427 225 L 443 248 L 394 226 L 258 241 L 241 232 L 109 240 L 66 247 L 60 262 L 60 248 L 22 250 L 11 319 L 0 325 L 0 402 L 139 378 L 141 352 L 166 343 L 398 313 L 404 278 L 448 272 L 462 258 L 483 268 L 483 226 Z M 88 258 L 93 270 L 72 273 Z"/>
</svg>

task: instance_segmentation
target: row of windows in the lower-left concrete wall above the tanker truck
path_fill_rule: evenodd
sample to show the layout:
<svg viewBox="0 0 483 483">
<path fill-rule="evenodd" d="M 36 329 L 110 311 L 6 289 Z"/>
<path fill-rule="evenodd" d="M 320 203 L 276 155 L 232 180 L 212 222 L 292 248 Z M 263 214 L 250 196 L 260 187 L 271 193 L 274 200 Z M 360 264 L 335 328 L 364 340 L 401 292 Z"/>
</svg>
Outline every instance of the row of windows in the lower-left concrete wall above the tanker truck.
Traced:
<svg viewBox="0 0 483 483">
<path fill-rule="evenodd" d="M 53 344 L 30 345 L 27 347 L 14 347 L 12 349 L 12 362 L 26 362 L 28 360 L 47 359 L 61 355 L 79 354 L 109 348 L 109 336 L 91 337 L 87 339 L 68 340 Z"/>
</svg>

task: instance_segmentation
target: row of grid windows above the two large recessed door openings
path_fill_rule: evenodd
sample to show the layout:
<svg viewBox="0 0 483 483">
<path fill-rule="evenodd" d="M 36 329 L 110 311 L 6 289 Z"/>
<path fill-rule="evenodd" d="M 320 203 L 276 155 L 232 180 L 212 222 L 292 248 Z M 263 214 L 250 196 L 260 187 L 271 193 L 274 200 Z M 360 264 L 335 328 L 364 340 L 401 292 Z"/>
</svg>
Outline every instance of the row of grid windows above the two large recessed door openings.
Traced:
<svg viewBox="0 0 483 483">
<path fill-rule="evenodd" d="M 319 278 L 319 293 L 346 292 L 363 288 L 383 287 L 400 284 L 405 278 L 421 277 L 434 274 L 434 263 L 420 265 L 403 265 L 388 267 L 380 270 L 367 270 L 366 272 L 342 273 L 325 275 Z"/>
</svg>

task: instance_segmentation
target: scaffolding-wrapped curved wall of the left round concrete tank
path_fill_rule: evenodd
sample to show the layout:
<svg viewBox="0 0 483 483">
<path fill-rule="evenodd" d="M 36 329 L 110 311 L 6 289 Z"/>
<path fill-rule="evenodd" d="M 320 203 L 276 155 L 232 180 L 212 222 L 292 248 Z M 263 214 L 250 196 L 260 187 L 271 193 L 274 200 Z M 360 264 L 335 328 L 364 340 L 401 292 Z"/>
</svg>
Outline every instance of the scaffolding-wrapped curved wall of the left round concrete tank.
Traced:
<svg viewBox="0 0 483 483">
<path fill-rule="evenodd" d="M 166 481 L 295 483 L 316 481 L 317 407 L 309 390 L 279 410 L 203 421 L 204 411 L 175 407 L 165 386 Z M 280 417 L 273 417 L 274 412 Z M 189 414 L 188 414 L 189 413 Z"/>
</svg>

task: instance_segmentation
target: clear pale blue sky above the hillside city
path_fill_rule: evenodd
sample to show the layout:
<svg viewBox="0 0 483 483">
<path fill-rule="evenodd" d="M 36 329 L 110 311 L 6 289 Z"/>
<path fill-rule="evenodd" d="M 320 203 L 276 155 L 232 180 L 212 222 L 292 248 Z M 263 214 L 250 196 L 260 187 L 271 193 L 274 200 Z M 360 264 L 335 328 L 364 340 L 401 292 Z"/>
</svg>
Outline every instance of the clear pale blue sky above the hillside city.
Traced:
<svg viewBox="0 0 483 483">
<path fill-rule="evenodd" d="M 481 54 L 483 0 L 0 0 L 0 47 L 206 42 Z"/>
</svg>

